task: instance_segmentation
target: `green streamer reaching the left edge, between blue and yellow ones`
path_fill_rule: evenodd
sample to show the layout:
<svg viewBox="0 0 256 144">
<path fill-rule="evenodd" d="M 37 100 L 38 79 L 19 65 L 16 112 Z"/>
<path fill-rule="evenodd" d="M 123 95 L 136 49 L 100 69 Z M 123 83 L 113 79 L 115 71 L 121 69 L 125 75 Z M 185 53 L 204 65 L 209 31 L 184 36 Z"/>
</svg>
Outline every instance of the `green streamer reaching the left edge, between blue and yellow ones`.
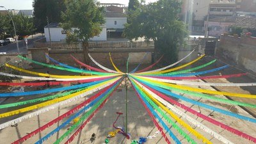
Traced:
<svg viewBox="0 0 256 144">
<path fill-rule="evenodd" d="M 92 87 L 92 86 L 88 86 L 86 88 L 90 88 L 90 87 Z M 22 105 L 25 105 L 25 104 L 31 104 L 31 103 L 35 103 L 35 102 L 42 102 L 42 101 L 45 101 L 45 100 L 51 100 L 51 99 L 55 99 L 55 98 L 59 98 L 59 97 L 64 97 L 66 95 L 70 95 L 71 93 L 79 92 L 81 90 L 85 90 L 86 88 L 79 88 L 77 90 L 71 90 L 70 92 L 59 93 L 59 94 L 56 94 L 56 95 L 51 95 L 49 97 L 43 97 L 43 98 L 39 98 L 39 99 L 26 100 L 26 101 L 23 101 L 23 102 L 15 102 L 15 103 L 12 103 L 12 104 L 2 104 L 2 105 L 0 105 L 0 109 L 11 108 L 11 107 L 15 107 L 15 106 L 22 106 Z"/>
</svg>

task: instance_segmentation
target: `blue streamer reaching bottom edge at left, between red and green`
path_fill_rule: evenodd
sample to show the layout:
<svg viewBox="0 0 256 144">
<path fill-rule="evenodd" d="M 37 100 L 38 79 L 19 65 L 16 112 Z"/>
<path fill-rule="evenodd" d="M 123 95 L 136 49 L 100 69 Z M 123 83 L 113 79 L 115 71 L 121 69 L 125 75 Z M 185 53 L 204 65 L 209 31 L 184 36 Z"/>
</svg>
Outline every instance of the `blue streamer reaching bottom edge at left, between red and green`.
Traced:
<svg viewBox="0 0 256 144">
<path fill-rule="evenodd" d="M 55 134 L 56 132 L 60 131 L 60 129 L 62 129 L 63 127 L 65 127 L 66 125 L 68 125 L 72 120 L 74 120 L 74 118 L 76 118 L 77 116 L 81 115 L 82 113 L 84 113 L 84 111 L 86 111 L 87 109 L 89 109 L 90 107 L 92 107 L 95 103 L 97 103 L 100 99 L 102 99 L 102 97 L 104 97 L 104 95 L 106 95 L 106 93 L 108 93 L 111 89 L 115 88 L 116 84 L 118 84 L 120 80 L 116 81 L 115 84 L 113 86 L 111 86 L 111 88 L 109 88 L 108 90 L 106 90 L 106 92 L 102 93 L 99 97 L 97 97 L 95 100 L 93 100 L 92 102 L 90 102 L 90 104 L 88 104 L 86 107 L 84 107 L 83 109 L 81 109 L 80 111 L 78 111 L 75 115 L 71 116 L 70 118 L 68 118 L 68 120 L 66 120 L 65 122 L 63 122 L 59 127 L 57 127 L 56 129 L 54 129 L 53 131 L 51 131 L 50 133 L 48 133 L 47 135 L 44 136 L 44 138 L 41 138 L 40 140 L 36 141 L 36 144 L 39 143 L 43 143 L 44 141 L 46 141 L 48 138 L 50 138 L 53 134 Z"/>
</svg>

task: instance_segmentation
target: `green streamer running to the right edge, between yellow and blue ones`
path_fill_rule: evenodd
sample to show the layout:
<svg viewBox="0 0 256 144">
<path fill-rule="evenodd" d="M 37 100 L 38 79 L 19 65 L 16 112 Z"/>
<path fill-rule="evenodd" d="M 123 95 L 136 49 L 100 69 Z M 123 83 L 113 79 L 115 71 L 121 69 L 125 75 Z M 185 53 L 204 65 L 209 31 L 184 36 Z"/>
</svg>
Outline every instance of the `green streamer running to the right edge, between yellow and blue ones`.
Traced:
<svg viewBox="0 0 256 144">
<path fill-rule="evenodd" d="M 189 92 L 187 90 L 180 90 L 178 88 L 172 88 L 171 86 L 166 86 L 164 84 L 153 83 L 151 81 L 147 81 L 147 80 L 144 80 L 144 79 L 141 79 L 141 81 L 145 81 L 149 84 L 152 84 L 154 86 L 158 86 L 158 87 L 161 87 L 161 88 L 165 88 L 167 90 L 173 90 L 175 92 L 186 93 L 186 94 L 189 94 L 189 95 L 193 95 L 195 97 L 202 97 L 202 98 L 205 98 L 205 99 L 216 100 L 218 102 L 223 102 L 223 103 L 227 103 L 227 104 L 234 104 L 234 105 L 239 105 L 239 106 L 246 106 L 246 107 L 250 107 L 250 108 L 256 108 L 256 104 L 248 104 L 246 102 L 238 102 L 236 100 L 229 100 L 229 99 L 221 99 L 219 97 L 212 97 L 211 95 L 206 95 L 206 94 L 203 94 L 203 93 L 196 93 L 196 92 Z"/>
</svg>

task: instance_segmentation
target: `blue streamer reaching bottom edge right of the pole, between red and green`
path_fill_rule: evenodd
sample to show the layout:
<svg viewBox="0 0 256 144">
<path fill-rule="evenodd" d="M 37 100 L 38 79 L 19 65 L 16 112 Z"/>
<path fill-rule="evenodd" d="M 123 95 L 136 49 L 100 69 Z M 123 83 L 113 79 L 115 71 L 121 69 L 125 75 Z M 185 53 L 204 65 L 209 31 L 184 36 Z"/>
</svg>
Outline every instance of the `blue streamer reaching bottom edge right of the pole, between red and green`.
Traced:
<svg viewBox="0 0 256 144">
<path fill-rule="evenodd" d="M 131 81 L 132 82 L 132 81 Z M 135 86 L 135 84 L 132 82 L 132 84 L 134 85 L 134 88 L 136 89 L 136 91 L 139 93 L 141 99 L 143 100 L 143 102 L 145 102 L 145 104 L 147 105 L 148 109 L 150 109 L 151 113 L 156 116 L 156 118 L 159 120 L 160 124 L 163 125 L 164 129 L 168 132 L 168 134 L 171 136 L 171 138 L 173 139 L 173 141 L 175 141 L 175 143 L 179 143 L 181 144 L 181 142 L 179 141 L 179 139 L 175 136 L 175 134 L 173 134 L 173 132 L 169 129 L 169 127 L 163 122 L 162 118 L 157 115 L 156 111 L 154 111 L 154 109 L 152 108 L 152 106 L 150 106 L 150 104 L 148 103 L 148 101 L 142 96 L 140 90 L 138 90 L 138 87 Z"/>
</svg>

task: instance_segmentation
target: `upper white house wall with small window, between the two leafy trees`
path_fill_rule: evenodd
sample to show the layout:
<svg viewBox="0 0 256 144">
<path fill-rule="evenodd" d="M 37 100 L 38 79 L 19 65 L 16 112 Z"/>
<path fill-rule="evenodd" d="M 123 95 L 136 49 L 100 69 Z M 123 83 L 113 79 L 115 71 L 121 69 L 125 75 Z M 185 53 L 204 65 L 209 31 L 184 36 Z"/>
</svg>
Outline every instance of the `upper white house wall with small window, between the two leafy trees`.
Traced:
<svg viewBox="0 0 256 144">
<path fill-rule="evenodd" d="M 106 17 L 105 19 L 107 29 L 124 29 L 124 24 L 127 23 L 126 17 Z"/>
</svg>

